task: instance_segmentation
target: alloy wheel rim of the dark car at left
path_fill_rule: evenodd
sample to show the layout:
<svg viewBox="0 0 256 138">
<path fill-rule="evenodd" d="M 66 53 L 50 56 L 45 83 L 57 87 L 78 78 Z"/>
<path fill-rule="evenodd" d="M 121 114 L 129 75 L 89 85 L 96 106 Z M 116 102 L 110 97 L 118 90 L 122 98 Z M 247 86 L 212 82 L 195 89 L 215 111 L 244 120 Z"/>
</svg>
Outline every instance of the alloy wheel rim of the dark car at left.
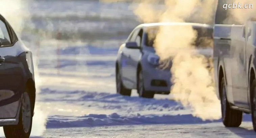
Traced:
<svg viewBox="0 0 256 138">
<path fill-rule="evenodd" d="M 31 124 L 31 106 L 27 93 L 24 94 L 22 99 L 22 125 L 25 133 L 29 132 Z"/>
</svg>

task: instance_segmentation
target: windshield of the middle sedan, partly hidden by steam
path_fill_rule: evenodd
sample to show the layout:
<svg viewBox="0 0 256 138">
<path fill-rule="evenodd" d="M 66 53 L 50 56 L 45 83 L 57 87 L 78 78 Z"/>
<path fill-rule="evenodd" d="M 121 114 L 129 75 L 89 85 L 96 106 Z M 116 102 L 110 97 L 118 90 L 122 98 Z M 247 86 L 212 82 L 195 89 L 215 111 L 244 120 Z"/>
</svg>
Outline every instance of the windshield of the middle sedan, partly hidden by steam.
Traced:
<svg viewBox="0 0 256 138">
<path fill-rule="evenodd" d="M 209 47 L 209 43 L 211 43 L 211 40 L 213 39 L 213 29 L 210 28 L 194 28 L 197 33 L 198 37 L 195 42 L 195 46 L 197 47 Z M 154 41 L 157 34 L 156 28 L 148 29 L 146 32 L 145 37 L 145 44 L 146 46 L 153 47 Z M 170 32 L 171 33 L 171 32 Z"/>
</svg>

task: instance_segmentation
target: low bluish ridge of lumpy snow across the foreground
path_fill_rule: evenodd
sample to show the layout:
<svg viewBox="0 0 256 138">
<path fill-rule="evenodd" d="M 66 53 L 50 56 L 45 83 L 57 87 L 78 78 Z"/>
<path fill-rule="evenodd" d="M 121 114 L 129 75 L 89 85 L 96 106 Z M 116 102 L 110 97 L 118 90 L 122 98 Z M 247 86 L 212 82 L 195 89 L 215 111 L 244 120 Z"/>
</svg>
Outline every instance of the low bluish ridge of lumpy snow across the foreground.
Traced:
<svg viewBox="0 0 256 138">
<path fill-rule="evenodd" d="M 202 121 L 191 114 L 168 115 L 148 114 L 140 115 L 119 115 L 118 113 L 89 114 L 86 116 L 52 116 L 48 119 L 47 128 L 68 128 L 68 127 L 98 127 L 116 125 L 147 125 L 147 124 L 201 124 L 212 121 Z M 214 121 L 220 122 L 220 120 Z"/>
</svg>

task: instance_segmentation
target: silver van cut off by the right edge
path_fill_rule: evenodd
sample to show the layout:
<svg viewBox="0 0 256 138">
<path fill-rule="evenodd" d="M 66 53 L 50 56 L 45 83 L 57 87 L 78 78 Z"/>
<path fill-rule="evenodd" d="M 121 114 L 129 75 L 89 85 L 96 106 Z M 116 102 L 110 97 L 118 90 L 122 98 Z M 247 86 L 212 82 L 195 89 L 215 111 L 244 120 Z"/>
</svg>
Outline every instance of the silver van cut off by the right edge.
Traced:
<svg viewBox="0 0 256 138">
<path fill-rule="evenodd" d="M 256 20 L 246 24 L 225 21 L 231 9 L 223 9 L 222 2 L 216 12 L 213 63 L 223 124 L 239 127 L 242 113 L 252 113 L 256 131 Z"/>
</svg>

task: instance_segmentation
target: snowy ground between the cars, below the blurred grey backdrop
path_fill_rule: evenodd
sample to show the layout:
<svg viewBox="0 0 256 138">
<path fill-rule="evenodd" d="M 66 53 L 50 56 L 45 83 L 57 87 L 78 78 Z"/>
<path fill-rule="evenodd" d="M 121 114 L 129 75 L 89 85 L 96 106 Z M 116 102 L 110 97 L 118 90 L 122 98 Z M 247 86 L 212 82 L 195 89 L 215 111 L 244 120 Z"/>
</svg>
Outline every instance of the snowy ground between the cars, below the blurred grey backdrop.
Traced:
<svg viewBox="0 0 256 138">
<path fill-rule="evenodd" d="M 104 44 L 62 48 L 49 59 L 45 51 L 54 55 L 56 49 L 41 51 L 42 84 L 36 104 L 48 114 L 42 137 L 256 137 L 248 114 L 240 128 L 225 128 L 220 120 L 193 117 L 191 109 L 171 100 L 171 95 L 145 99 L 135 90 L 131 97 L 117 94 L 118 48 Z"/>
</svg>

